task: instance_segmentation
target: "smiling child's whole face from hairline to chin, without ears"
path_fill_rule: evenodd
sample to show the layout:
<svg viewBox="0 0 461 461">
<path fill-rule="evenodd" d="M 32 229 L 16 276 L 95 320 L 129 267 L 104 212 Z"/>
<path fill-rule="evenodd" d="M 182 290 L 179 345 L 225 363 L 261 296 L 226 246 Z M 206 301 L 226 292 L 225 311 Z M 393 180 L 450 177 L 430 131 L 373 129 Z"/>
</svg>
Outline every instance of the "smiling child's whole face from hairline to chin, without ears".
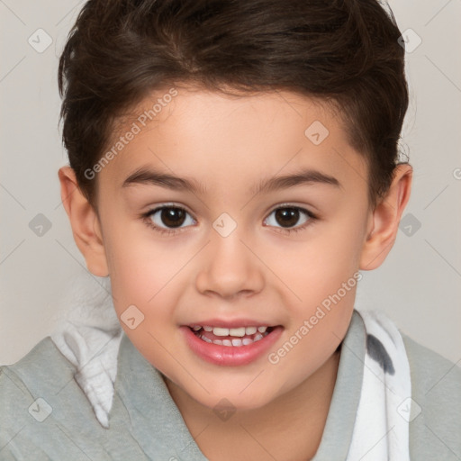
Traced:
<svg viewBox="0 0 461 461">
<path fill-rule="evenodd" d="M 146 127 L 155 101 L 143 102 L 122 130 L 140 132 L 97 177 L 114 306 L 140 353 L 195 400 L 257 408 L 302 384 L 348 329 L 372 216 L 366 164 L 339 119 L 299 95 L 181 89 L 165 101 Z M 146 175 L 123 186 L 141 167 L 197 188 Z M 302 171 L 311 180 L 255 191 Z M 185 212 L 142 217 L 165 204 Z M 276 328 L 258 341 L 246 330 L 240 347 L 195 325 Z"/>
</svg>

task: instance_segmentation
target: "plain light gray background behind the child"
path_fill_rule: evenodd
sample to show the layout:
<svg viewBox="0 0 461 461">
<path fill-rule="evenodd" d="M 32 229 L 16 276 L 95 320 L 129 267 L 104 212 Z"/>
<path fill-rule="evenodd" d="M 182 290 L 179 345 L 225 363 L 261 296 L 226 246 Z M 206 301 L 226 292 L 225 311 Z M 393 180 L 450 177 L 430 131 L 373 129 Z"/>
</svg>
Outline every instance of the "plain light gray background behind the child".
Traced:
<svg viewBox="0 0 461 461">
<path fill-rule="evenodd" d="M 67 164 L 58 130 L 58 57 L 82 5 L 0 0 L 1 364 L 15 362 L 51 333 L 77 278 L 91 288 L 101 282 L 88 274 L 74 243 L 57 176 Z M 384 310 L 402 331 L 459 365 L 461 0 L 390 5 L 403 35 L 411 28 L 422 41 L 407 53 L 411 104 L 402 149 L 414 167 L 413 189 L 406 229 L 399 230 L 384 265 L 363 273 L 357 299 Z M 38 29 L 52 39 L 43 52 L 28 42 L 32 36 L 36 47 L 45 44 Z M 415 43 L 410 39 L 411 47 Z M 39 213 L 51 224 L 41 236 L 30 228 Z"/>
</svg>

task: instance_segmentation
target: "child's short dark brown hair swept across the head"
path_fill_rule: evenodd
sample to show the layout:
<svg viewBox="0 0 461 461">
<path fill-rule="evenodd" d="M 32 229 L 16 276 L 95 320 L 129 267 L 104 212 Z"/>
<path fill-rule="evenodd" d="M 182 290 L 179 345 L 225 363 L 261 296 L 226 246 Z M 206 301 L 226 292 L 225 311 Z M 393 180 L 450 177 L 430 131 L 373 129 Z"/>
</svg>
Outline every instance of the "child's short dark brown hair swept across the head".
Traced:
<svg viewBox="0 0 461 461">
<path fill-rule="evenodd" d="M 60 120 L 70 166 L 85 171 L 115 122 L 152 91 L 277 89 L 339 108 L 366 158 L 372 203 L 392 182 L 408 107 L 404 49 L 378 0 L 89 0 L 59 59 Z"/>
</svg>

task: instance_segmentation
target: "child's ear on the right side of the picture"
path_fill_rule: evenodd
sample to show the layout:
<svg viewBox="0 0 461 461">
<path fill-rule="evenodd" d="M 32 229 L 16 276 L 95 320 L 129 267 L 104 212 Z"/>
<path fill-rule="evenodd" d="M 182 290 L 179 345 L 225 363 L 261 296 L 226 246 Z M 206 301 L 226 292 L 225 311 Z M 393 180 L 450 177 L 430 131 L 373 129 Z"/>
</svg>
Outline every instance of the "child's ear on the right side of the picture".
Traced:
<svg viewBox="0 0 461 461">
<path fill-rule="evenodd" d="M 368 233 L 360 258 L 360 269 L 380 267 L 397 238 L 402 212 L 410 199 L 412 168 L 395 167 L 393 182 L 387 194 L 375 206 L 368 222 Z"/>
</svg>

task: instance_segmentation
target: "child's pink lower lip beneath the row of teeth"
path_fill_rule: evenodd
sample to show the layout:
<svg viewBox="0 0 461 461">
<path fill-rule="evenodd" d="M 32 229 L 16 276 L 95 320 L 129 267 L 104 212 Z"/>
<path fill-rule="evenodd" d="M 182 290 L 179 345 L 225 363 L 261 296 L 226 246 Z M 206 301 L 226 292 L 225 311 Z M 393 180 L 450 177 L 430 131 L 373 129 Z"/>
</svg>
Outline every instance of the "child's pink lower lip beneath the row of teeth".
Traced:
<svg viewBox="0 0 461 461">
<path fill-rule="evenodd" d="M 214 365 L 241 366 L 248 365 L 263 356 L 265 352 L 280 338 L 282 327 L 276 327 L 263 339 L 247 346 L 220 346 L 198 338 L 189 327 L 180 327 L 185 335 L 189 348 L 198 356 Z"/>
</svg>

